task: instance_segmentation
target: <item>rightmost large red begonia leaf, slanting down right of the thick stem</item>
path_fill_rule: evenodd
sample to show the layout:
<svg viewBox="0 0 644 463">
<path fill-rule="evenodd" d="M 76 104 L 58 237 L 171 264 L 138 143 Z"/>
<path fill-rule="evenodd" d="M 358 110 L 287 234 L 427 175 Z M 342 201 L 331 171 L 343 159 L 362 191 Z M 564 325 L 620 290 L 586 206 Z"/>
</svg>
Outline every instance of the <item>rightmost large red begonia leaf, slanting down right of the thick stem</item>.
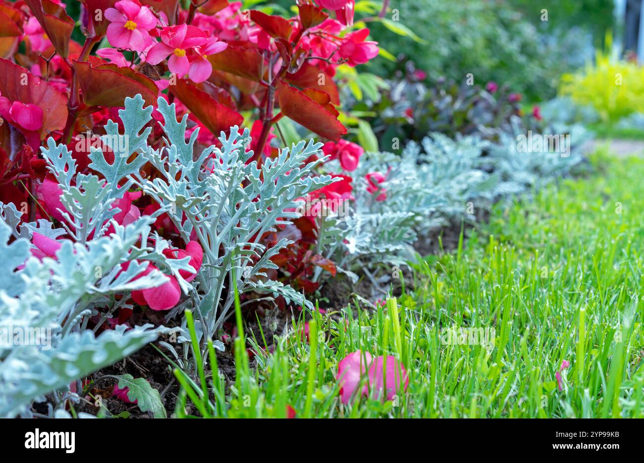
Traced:
<svg viewBox="0 0 644 463">
<path fill-rule="evenodd" d="M 346 134 L 346 127 L 336 115 L 283 80 L 278 82 L 278 101 L 285 116 L 320 136 L 337 141 Z"/>
</svg>

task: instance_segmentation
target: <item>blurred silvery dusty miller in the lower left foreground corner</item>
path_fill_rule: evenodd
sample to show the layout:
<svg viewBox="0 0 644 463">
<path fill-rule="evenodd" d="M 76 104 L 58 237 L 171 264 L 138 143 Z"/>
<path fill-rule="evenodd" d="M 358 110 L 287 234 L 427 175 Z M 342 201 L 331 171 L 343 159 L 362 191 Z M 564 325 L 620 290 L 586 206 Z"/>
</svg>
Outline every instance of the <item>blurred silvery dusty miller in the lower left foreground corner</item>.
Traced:
<svg viewBox="0 0 644 463">
<path fill-rule="evenodd" d="M 0 342 L 0 416 L 28 417 L 33 401 L 43 401 L 45 395 L 50 395 L 53 415 L 54 410 L 62 410 L 66 399 L 79 399 L 69 392 L 70 383 L 170 331 L 152 325 L 126 331 L 126 325 L 118 325 L 96 336 L 100 323 L 87 329 L 91 316 L 100 314 L 104 322 L 119 307 L 115 294 L 158 286 L 166 277 L 153 271 L 133 280 L 148 265 L 133 259 L 153 258 L 154 250 L 137 246 L 146 242 L 153 219 L 142 218 L 126 227 L 114 223 L 115 231 L 109 237 L 86 244 L 67 240 L 55 259 L 39 260 L 32 257 L 26 237 L 33 231 L 51 236 L 52 224 L 43 220 L 17 230 L 9 223 L 19 217 L 14 204 L 2 206 L 0 253 L 9 270 L 0 275 L 0 332 L 4 336 Z M 12 234 L 17 239 L 8 244 Z M 129 262 L 125 271 L 124 262 Z"/>
</svg>

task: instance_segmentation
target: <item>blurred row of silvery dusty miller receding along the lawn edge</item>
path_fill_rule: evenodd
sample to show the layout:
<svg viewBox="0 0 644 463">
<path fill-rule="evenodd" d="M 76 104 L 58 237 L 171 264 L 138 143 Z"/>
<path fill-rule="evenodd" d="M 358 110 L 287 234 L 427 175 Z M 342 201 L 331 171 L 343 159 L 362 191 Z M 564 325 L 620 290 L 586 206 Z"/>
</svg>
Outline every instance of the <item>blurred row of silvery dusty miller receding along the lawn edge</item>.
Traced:
<svg viewBox="0 0 644 463">
<path fill-rule="evenodd" d="M 474 206 L 488 209 L 493 202 L 543 186 L 568 174 L 583 159 L 579 147 L 588 134 L 578 125 L 555 124 L 553 133 L 571 132 L 571 155 L 546 150 L 518 152 L 516 133 L 502 132 L 492 143 L 477 136 L 456 140 L 437 132 L 421 143 L 410 141 L 401 156 L 368 152 L 353 172 L 355 202 L 340 217 L 321 217 L 319 246 L 339 271 L 357 281 L 361 271 L 374 287 L 388 281 L 392 266 L 413 260 L 412 245 L 450 220 L 475 220 Z M 365 175 L 386 174 L 380 190 L 369 192 Z M 384 192 L 386 199 L 376 198 Z M 388 264 L 377 277 L 381 264 Z M 320 278 L 318 269 L 315 275 Z"/>
</svg>

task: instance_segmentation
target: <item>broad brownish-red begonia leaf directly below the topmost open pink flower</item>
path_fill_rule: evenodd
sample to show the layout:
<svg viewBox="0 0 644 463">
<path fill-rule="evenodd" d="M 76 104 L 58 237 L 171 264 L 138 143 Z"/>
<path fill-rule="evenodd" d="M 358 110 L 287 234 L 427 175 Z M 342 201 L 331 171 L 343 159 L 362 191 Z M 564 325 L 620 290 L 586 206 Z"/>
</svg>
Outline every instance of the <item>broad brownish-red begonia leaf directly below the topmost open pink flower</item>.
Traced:
<svg viewBox="0 0 644 463">
<path fill-rule="evenodd" d="M 88 106 L 122 107 L 126 97 L 140 93 L 147 105 L 156 105 L 155 82 L 134 69 L 116 64 L 90 64 L 72 60 L 83 101 Z"/>
</svg>

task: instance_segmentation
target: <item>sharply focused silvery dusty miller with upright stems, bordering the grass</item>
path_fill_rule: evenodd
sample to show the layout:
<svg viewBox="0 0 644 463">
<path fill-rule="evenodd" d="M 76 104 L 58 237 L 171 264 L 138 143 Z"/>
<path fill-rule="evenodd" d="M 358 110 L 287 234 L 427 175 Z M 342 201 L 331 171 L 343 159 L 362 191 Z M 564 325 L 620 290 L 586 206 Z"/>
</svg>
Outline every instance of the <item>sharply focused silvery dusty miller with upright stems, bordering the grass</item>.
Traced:
<svg viewBox="0 0 644 463">
<path fill-rule="evenodd" d="M 126 100 L 126 115 L 137 113 L 139 123 L 145 124 L 151 107 L 141 106 L 138 97 Z M 260 241 L 268 231 L 300 216 L 299 198 L 332 183 L 330 176 L 313 175 L 326 158 L 304 162 L 319 151 L 321 143 L 301 141 L 258 165 L 249 162 L 253 158 L 249 130 L 240 133 L 235 126 L 229 134 L 220 134 L 221 147 L 213 145 L 196 153 L 198 129 L 186 139 L 187 115 L 177 122 L 175 104 L 164 98 L 158 99 L 158 111 L 164 119 L 164 147 L 141 150 L 142 162 L 148 161 L 162 175 L 150 180 L 137 170 L 128 172 L 128 178 L 167 210 L 186 243 L 194 231 L 204 248 L 204 264 L 193 280 L 197 287 L 188 291 L 191 304 L 199 308 L 198 336 L 204 341 L 204 333 L 212 337 L 222 325 L 234 302 L 234 287 L 239 293 L 269 293 L 311 307 L 301 293 L 268 279 L 265 272 L 278 268 L 270 258 L 292 241 L 282 239 L 270 248 Z M 106 143 L 111 140 L 106 138 Z M 100 150 L 93 156 L 104 163 Z M 187 342 L 187 336 L 180 341 Z"/>
</svg>

